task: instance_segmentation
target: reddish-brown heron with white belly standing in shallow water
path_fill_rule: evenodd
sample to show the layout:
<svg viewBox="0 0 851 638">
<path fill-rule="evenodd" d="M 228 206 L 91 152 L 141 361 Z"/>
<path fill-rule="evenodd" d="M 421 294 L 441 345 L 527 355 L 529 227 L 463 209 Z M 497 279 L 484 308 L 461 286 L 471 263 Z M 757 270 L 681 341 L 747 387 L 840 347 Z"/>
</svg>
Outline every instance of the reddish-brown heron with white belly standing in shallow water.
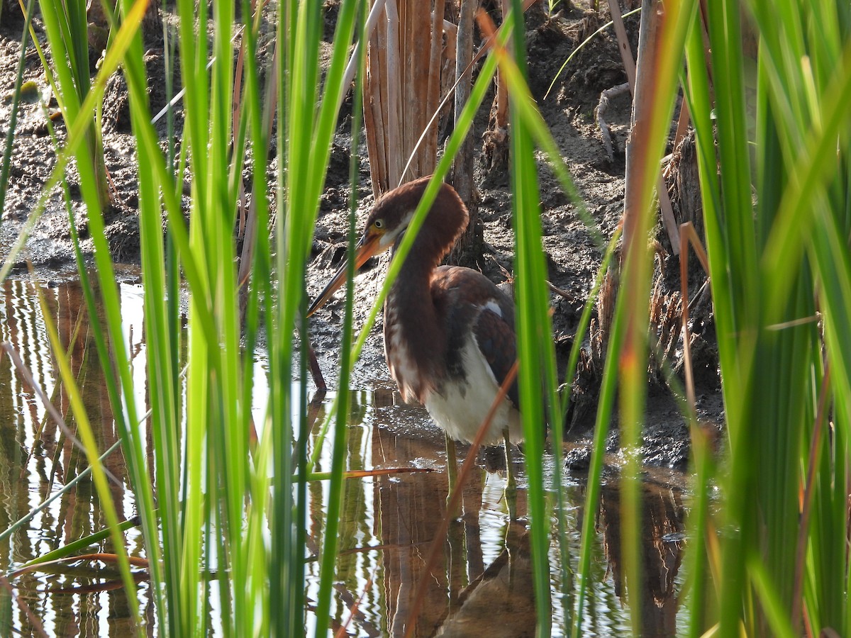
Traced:
<svg viewBox="0 0 851 638">
<path fill-rule="evenodd" d="M 355 268 L 396 248 L 420 203 L 428 177 L 375 202 L 357 242 Z M 387 367 L 406 402 L 416 399 L 446 433 L 450 483 L 454 441 L 472 441 L 517 357 L 514 304 L 481 272 L 439 265 L 469 221 L 458 193 L 443 184 L 384 305 Z M 321 307 L 346 281 L 346 262 L 307 311 Z M 511 486 L 510 441 L 523 432 L 517 380 L 511 384 L 483 442 L 505 438 Z"/>
</svg>

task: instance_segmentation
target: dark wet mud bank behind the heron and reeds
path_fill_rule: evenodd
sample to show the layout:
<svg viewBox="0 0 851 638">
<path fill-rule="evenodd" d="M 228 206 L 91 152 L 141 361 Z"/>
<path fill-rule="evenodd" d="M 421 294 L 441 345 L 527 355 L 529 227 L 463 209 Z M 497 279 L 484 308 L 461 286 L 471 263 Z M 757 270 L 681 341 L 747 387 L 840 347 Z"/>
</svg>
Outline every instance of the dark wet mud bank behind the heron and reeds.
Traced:
<svg viewBox="0 0 851 638">
<path fill-rule="evenodd" d="M 552 134 L 568 162 L 575 183 L 585 206 L 595 219 L 603 236 L 610 237 L 620 221 L 624 191 L 624 149 L 630 118 L 630 98 L 627 95 L 612 100 L 608 111 L 614 144 L 614 161 L 610 160 L 603 148 L 602 137 L 594 119 L 601 91 L 625 82 L 620 55 L 614 40 L 614 33 L 604 31 L 592 40 L 591 44 L 577 54 L 558 77 L 549 96 L 544 99 L 547 87 L 563 61 L 578 43 L 608 20 L 608 14 L 597 15 L 581 9 L 571 8 L 562 3 L 562 12 L 547 18 L 543 9 L 534 9 L 527 16 L 528 66 L 530 85 L 538 100 L 541 112 L 551 127 Z M 637 18 L 626 20 L 626 28 L 633 39 L 633 50 L 637 41 Z M 10 101 L 6 96 L 14 88 L 14 73 L 20 54 L 20 32 L 23 26 L 20 13 L 4 11 L 0 22 L 0 130 L 5 134 L 9 127 Z M 42 38 L 36 21 L 37 33 Z M 150 44 L 146 56 L 149 74 L 160 78 L 151 83 L 157 87 L 151 94 L 152 109 L 157 111 L 165 102 L 162 90 L 163 49 L 162 43 Z M 39 88 L 45 81 L 39 60 L 31 47 L 28 49 L 25 80 L 32 80 Z M 108 90 L 109 99 L 105 109 L 105 151 L 106 165 L 117 189 L 117 205 L 106 212 L 108 236 L 114 256 L 118 260 L 134 262 L 139 259 L 138 222 L 135 206 L 135 168 L 134 141 L 129 134 L 129 121 L 126 107 L 123 105 L 123 83 L 114 79 Z M 482 140 L 488 125 L 489 101 L 483 106 L 477 119 L 477 140 Z M 344 105 L 344 111 L 351 113 L 351 97 Z M 348 185 L 348 162 L 351 134 L 348 133 L 351 117 L 346 112 L 340 115 L 340 129 L 332 151 L 331 165 L 328 171 L 326 191 L 323 194 L 321 214 L 317 225 L 314 253 L 316 259 L 311 264 L 308 280 L 308 293 L 313 295 L 322 287 L 331 268 L 339 264 L 343 255 L 346 232 L 346 202 L 350 186 Z M 64 133 L 58 126 L 60 137 Z M 164 122 L 160 124 L 164 135 Z M 481 142 L 477 142 L 481 146 Z M 361 145 L 363 149 L 363 145 Z M 363 216 L 372 202 L 368 184 L 368 169 L 363 157 L 358 197 L 361 199 Z M 37 104 L 26 103 L 19 112 L 18 129 L 12 157 L 12 173 L 9 193 L 3 209 L 3 223 L 0 225 L 0 256 L 4 256 L 14 238 L 24 224 L 33 203 L 40 194 L 44 181 L 54 165 L 53 143 L 50 139 L 46 118 Z M 543 209 L 543 246 L 549 264 L 550 281 L 560 293 L 553 293 L 552 305 L 555 308 L 553 318 L 557 353 L 565 365 L 574 331 L 580 318 L 582 305 L 591 289 L 597 274 L 602 249 L 595 245 L 591 234 L 585 228 L 576 213 L 574 204 L 568 201 L 551 176 L 545 164 L 540 163 L 541 205 Z M 75 200 L 75 214 L 83 237 L 85 234 L 85 214 L 82 203 L 78 202 L 79 192 L 73 185 L 71 170 L 71 194 Z M 495 178 L 495 179 L 494 179 Z M 500 179 L 502 178 L 502 179 Z M 669 183 L 676 182 L 676 174 L 671 175 Z M 488 174 L 483 162 L 477 163 L 476 182 L 480 193 L 479 208 L 484 225 L 484 250 L 478 267 L 494 281 L 505 279 L 504 271 L 511 272 L 513 259 L 513 237 L 511 232 L 511 193 L 504 176 Z M 488 184 L 486 187 L 485 184 Z M 496 184 L 496 185 L 494 185 Z M 501 185 L 500 185 L 501 184 Z M 682 185 L 676 185 L 682 189 Z M 676 206 L 676 202 L 675 202 Z M 694 213 L 694 211 L 692 211 Z M 84 239 L 83 248 L 90 250 L 88 239 Z M 54 193 L 43 217 L 37 222 L 26 255 L 19 260 L 18 267 L 26 268 L 24 259 L 45 268 L 65 268 L 72 262 L 71 242 L 68 232 L 66 211 L 60 199 L 60 193 Z M 373 266 L 373 267 L 370 267 Z M 657 269 L 660 277 L 660 297 L 656 302 L 667 308 L 674 303 L 671 291 L 678 289 L 678 261 L 676 257 L 666 257 L 660 261 Z M 504 269 L 504 271 L 503 271 Z M 358 277 L 356 321 L 360 325 L 368 314 L 371 300 L 374 299 L 383 268 L 367 266 Z M 700 276 L 693 283 L 693 292 L 700 285 Z M 706 305 L 708 308 L 708 304 Z M 317 347 L 319 361 L 328 377 L 328 383 L 334 387 L 334 370 L 339 350 L 341 304 L 339 301 L 328 305 L 328 310 L 318 313 L 311 324 L 311 339 Z M 664 314 L 664 313 L 663 313 Z M 675 372 L 682 365 L 682 344 L 678 344 L 678 327 L 670 317 L 660 320 L 670 325 L 656 326 L 660 342 L 668 353 L 665 364 Z M 380 323 L 380 320 L 379 320 Z M 697 325 L 699 324 L 699 325 Z M 676 328 L 676 329 L 675 329 Z M 713 428 L 722 422 L 722 402 L 718 391 L 717 363 L 714 348 L 714 328 L 711 311 L 705 312 L 696 320 L 695 329 L 700 333 L 703 350 L 701 361 L 700 388 L 698 390 L 700 418 L 712 424 Z M 380 325 L 374 328 L 363 352 L 353 379 L 356 387 L 391 387 L 384 363 L 380 336 Z M 585 372 L 577 385 L 576 392 L 579 408 L 569 416 L 570 434 L 576 443 L 571 453 L 571 464 L 580 469 L 587 459 L 587 436 L 596 412 L 597 385 L 599 383 L 599 362 L 593 361 L 593 348 L 585 357 Z M 700 353 L 699 353 L 700 354 Z M 658 364 L 659 362 L 657 362 Z M 683 466 L 688 460 L 688 430 L 679 415 L 677 402 L 671 398 L 664 375 L 659 373 L 657 365 L 651 377 L 651 391 L 648 397 L 648 426 L 645 434 L 644 453 L 648 462 L 665 466 Z M 616 430 L 609 438 L 610 447 L 617 447 Z"/>
</svg>

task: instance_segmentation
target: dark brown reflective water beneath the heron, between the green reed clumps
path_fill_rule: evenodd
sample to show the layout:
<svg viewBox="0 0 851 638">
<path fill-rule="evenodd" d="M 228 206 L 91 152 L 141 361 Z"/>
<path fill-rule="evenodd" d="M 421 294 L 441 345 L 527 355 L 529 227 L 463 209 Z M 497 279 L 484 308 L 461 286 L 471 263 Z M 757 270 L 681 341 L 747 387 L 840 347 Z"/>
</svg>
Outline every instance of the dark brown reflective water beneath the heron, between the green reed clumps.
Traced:
<svg viewBox="0 0 851 638">
<path fill-rule="evenodd" d="M 438 567 L 426 572 L 426 555 L 446 511 L 447 477 L 443 436 L 421 408 L 403 405 L 397 393 L 357 393 L 357 417 L 349 429 L 350 469 L 431 467 L 431 473 L 377 476 L 351 482 L 346 490 L 348 516 L 341 521 L 340 605 L 334 620 L 349 635 L 404 635 L 420 580 L 427 584 L 424 604 L 414 620 L 416 636 L 534 635 L 535 611 L 529 546 L 523 521 L 511 522 L 503 500 L 505 480 L 485 470 L 486 459 L 465 486 L 464 510 L 450 527 Z M 484 456 L 484 455 L 483 455 Z M 497 454 L 499 458 L 500 454 Z M 326 459 L 329 463 L 329 459 Z M 327 466 L 327 465 L 326 465 Z M 526 513 L 526 489 L 520 476 L 517 511 Z M 568 578 L 578 571 L 585 487 L 580 477 L 568 485 Z M 677 634 L 685 622 L 677 598 L 682 582 L 682 476 L 648 474 L 643 484 L 642 635 Z M 599 544 L 592 565 L 593 589 L 586 603 L 582 635 L 630 635 L 625 581 L 620 559 L 620 491 L 616 477 L 603 487 L 595 514 Z M 323 493 L 317 488 L 311 532 L 322 542 Z M 551 585 L 553 633 L 563 635 L 573 617 L 572 593 L 563 595 L 553 521 Z M 318 567 L 311 568 L 317 587 Z M 571 588 L 568 588 L 570 590 Z M 309 588 L 310 591 L 310 588 Z M 363 597 L 362 597 L 363 596 Z M 346 602 L 348 601 L 348 602 Z M 682 626 L 681 626 L 682 630 Z"/>
</svg>

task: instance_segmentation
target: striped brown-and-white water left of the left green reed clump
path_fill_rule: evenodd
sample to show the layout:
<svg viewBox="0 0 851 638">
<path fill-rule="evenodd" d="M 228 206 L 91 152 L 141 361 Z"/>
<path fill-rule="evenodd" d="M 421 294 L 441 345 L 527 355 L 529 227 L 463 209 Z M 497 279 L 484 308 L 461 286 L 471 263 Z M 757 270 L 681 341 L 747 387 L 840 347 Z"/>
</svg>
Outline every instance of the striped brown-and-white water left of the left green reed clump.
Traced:
<svg viewBox="0 0 851 638">
<path fill-rule="evenodd" d="M 45 306 L 59 329 L 71 370 L 84 389 L 83 402 L 91 419 L 100 450 L 106 450 L 118 433 L 106 397 L 100 362 L 92 347 L 85 318 L 82 289 L 76 282 L 43 286 Z M 131 352 L 142 356 L 141 289 L 121 285 L 125 339 Z M 31 375 L 31 382 L 14 367 L 8 353 L 0 356 L 0 531 L 41 504 L 55 491 L 88 467 L 85 454 L 71 436 L 76 424 L 71 415 L 66 391 L 58 384 L 59 375 L 49 349 L 44 316 L 31 282 L 6 280 L 0 288 L 0 342 L 20 356 Z M 144 373 L 144 358 L 134 361 L 134 371 Z M 37 396 L 36 388 L 49 396 L 68 426 L 61 430 Z M 139 386 L 144 401 L 144 383 Z M 111 474 L 111 495 L 119 518 L 134 515 L 127 471 L 122 453 L 112 453 L 104 466 Z M 83 480 L 77 487 L 54 500 L 46 509 L 9 538 L 0 540 L 0 572 L 58 547 L 98 532 L 106 527 L 94 485 Z M 136 529 L 127 533 L 131 555 L 142 554 L 142 538 Z M 109 542 L 94 551 L 110 552 Z M 129 635 L 127 595 L 121 578 L 112 567 L 92 567 L 90 563 L 54 566 L 46 572 L 30 572 L 14 580 L 13 601 L 9 593 L 0 594 L 0 635 L 8 634 L 9 622 L 26 634 L 38 619 L 47 635 Z M 152 615 L 148 584 L 140 582 L 133 592 L 142 612 Z"/>
</svg>

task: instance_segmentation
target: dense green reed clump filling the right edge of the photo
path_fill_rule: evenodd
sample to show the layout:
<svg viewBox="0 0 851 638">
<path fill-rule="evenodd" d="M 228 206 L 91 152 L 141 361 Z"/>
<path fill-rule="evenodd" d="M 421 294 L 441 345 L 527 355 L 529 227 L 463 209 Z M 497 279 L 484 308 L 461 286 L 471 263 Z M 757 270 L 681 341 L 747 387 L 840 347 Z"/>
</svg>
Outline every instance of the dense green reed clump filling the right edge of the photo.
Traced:
<svg viewBox="0 0 851 638">
<path fill-rule="evenodd" d="M 717 622 L 722 635 L 796 635 L 806 618 L 845 635 L 851 16 L 835 2 L 747 9 L 743 21 L 738 3 L 711 3 L 711 57 L 696 24 L 687 46 L 728 420 Z M 709 68 L 726 71 L 712 73 L 714 101 Z M 822 391 L 831 431 L 818 438 Z M 715 606 L 694 606 L 709 624 Z"/>
</svg>

